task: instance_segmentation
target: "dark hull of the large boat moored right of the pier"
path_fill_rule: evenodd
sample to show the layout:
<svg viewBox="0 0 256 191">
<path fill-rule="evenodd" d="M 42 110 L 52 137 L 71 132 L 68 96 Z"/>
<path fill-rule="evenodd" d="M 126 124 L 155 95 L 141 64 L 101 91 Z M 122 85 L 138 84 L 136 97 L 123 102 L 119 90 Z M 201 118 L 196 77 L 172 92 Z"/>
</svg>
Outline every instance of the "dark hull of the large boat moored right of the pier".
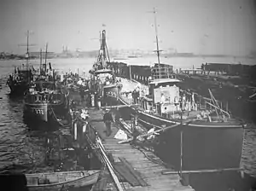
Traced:
<svg viewBox="0 0 256 191">
<path fill-rule="evenodd" d="M 121 97 L 119 97 L 119 104 L 127 105 Z M 135 110 L 132 107 L 123 107 L 119 108 L 119 112 L 124 119 L 128 119 Z M 142 111 L 138 113 L 138 122 L 148 130 L 153 125 L 167 127 L 179 123 L 179 121 L 163 119 Z M 241 166 L 244 129 L 243 125 L 237 121 L 229 123 L 194 121 L 191 124 L 178 125 L 160 134 L 159 142 L 154 144 L 154 150 L 161 159 L 174 165 L 177 170 L 180 168 L 181 131 L 183 131 L 183 170 Z"/>
</svg>

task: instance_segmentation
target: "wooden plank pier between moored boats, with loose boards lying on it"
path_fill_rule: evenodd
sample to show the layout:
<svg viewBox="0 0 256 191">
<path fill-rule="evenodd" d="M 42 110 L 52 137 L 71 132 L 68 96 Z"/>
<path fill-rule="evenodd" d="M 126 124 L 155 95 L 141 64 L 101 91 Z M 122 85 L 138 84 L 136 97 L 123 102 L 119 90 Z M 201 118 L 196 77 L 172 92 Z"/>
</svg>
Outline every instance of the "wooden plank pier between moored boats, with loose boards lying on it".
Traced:
<svg viewBox="0 0 256 191">
<path fill-rule="evenodd" d="M 164 191 L 164 190 L 179 190 L 179 191 L 193 191 L 190 186 L 183 186 L 179 181 L 180 178 L 177 174 L 162 175 L 161 171 L 166 167 L 160 164 L 160 159 L 154 155 L 154 153 L 138 149 L 131 146 L 129 143 L 119 144 L 119 140 L 114 136 L 119 130 L 118 124 L 112 125 L 112 134 L 106 136 L 104 130 L 105 124 L 102 122 L 103 113 L 100 110 L 90 109 L 90 124 L 95 127 L 98 135 L 102 138 L 102 144 L 106 152 L 113 156 L 112 165 L 115 171 L 118 171 L 119 182 L 123 190 L 152 190 L 152 191 Z M 112 157 L 110 157 L 112 158 Z M 108 157 L 109 159 L 109 157 Z M 110 159 L 111 161 L 111 159 Z M 123 165 L 123 167 L 122 167 Z M 116 168 L 119 166 L 119 168 Z M 119 190 L 115 188 L 113 181 L 108 173 L 103 173 L 99 181 L 92 190 Z M 105 181 L 104 181 L 105 180 Z M 108 181 L 107 181 L 108 180 Z M 107 185 L 106 185 L 107 184 Z"/>
</svg>

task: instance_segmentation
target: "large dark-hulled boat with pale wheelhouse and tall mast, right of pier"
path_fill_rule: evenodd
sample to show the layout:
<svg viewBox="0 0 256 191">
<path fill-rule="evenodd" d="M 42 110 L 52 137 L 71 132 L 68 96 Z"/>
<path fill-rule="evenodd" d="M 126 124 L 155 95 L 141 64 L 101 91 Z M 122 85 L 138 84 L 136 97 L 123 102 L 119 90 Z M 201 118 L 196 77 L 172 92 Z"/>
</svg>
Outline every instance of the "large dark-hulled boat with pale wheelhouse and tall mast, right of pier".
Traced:
<svg viewBox="0 0 256 191">
<path fill-rule="evenodd" d="M 156 43 L 158 63 L 154 67 L 113 66 L 116 75 L 130 73 L 130 78 L 121 78 L 123 88 L 118 98 L 126 107 L 119 112 L 124 118 L 137 115 L 148 130 L 166 129 L 154 148 L 178 170 L 240 168 L 245 124 L 233 118 L 211 90 L 209 98 L 181 90 L 182 81 L 176 78 L 173 67 L 160 63 L 157 33 Z"/>
</svg>

